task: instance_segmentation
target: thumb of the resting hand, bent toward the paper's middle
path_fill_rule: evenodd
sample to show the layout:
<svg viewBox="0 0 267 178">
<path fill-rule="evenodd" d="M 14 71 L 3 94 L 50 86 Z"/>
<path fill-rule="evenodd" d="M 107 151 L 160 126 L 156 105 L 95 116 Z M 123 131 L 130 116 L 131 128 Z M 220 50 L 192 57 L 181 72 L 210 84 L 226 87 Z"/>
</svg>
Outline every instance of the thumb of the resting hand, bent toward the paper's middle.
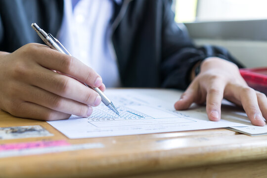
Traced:
<svg viewBox="0 0 267 178">
<path fill-rule="evenodd" d="M 185 91 L 182 93 L 180 99 L 175 103 L 174 107 L 176 110 L 188 109 L 191 104 L 196 100 L 198 93 L 198 86 L 196 83 L 192 83 Z"/>
</svg>

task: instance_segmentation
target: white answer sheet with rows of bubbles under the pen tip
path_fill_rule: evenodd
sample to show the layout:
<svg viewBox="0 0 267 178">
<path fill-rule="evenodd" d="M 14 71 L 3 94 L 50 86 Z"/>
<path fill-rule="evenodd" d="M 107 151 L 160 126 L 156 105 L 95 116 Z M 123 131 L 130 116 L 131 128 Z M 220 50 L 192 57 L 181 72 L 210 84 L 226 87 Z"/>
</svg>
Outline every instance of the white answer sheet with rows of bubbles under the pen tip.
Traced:
<svg viewBox="0 0 267 178">
<path fill-rule="evenodd" d="M 101 103 L 88 118 L 72 115 L 67 120 L 49 121 L 69 138 L 91 138 L 131 134 L 151 134 L 225 127 L 251 126 L 244 112 L 231 104 L 222 107 L 222 120 L 209 121 L 205 106 L 192 105 L 176 111 L 174 103 L 181 91 L 175 89 L 107 89 L 105 94 L 121 117 Z M 267 128 L 265 129 L 267 133 Z"/>
</svg>

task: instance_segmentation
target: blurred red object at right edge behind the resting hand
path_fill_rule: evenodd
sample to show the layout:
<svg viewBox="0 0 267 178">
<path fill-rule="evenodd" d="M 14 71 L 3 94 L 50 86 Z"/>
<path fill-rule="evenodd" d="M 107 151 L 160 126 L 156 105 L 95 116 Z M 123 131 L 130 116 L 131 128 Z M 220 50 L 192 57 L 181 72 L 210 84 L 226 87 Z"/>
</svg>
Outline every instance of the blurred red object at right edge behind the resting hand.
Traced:
<svg viewBox="0 0 267 178">
<path fill-rule="evenodd" d="M 248 85 L 267 95 L 267 68 L 239 69 Z"/>
</svg>

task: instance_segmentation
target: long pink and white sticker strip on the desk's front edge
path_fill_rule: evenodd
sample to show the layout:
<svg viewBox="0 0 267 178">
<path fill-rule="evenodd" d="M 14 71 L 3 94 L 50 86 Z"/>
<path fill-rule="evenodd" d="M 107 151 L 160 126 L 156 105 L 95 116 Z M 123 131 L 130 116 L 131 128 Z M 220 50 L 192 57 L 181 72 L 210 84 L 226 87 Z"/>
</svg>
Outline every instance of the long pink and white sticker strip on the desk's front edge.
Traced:
<svg viewBox="0 0 267 178">
<path fill-rule="evenodd" d="M 0 158 L 40 155 L 63 151 L 102 148 L 102 143 L 70 144 L 66 140 L 34 141 L 23 143 L 0 144 Z"/>
</svg>

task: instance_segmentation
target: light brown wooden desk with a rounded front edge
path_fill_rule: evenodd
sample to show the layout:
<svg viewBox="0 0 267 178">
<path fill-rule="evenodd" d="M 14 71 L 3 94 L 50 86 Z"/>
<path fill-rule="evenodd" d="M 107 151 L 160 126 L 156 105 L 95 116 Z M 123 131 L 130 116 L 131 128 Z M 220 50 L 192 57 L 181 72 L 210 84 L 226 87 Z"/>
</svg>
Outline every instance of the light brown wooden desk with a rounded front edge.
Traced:
<svg viewBox="0 0 267 178">
<path fill-rule="evenodd" d="M 46 122 L 0 111 L 0 127 L 41 125 L 54 136 L 2 143 L 67 140 L 101 142 L 103 148 L 0 158 L 0 178 L 266 178 L 267 136 L 226 129 L 68 139 Z"/>
</svg>

